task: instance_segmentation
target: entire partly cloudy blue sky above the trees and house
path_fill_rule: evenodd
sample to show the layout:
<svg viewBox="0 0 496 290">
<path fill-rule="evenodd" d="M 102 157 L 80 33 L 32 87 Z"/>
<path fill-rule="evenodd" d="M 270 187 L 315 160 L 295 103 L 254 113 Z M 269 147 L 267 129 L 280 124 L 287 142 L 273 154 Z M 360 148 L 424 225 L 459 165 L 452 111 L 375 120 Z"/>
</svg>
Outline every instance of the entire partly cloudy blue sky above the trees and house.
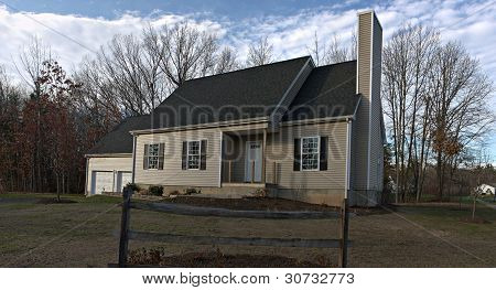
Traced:
<svg viewBox="0 0 496 290">
<path fill-rule="evenodd" d="M 145 25 L 188 21 L 216 33 L 242 60 L 248 44 L 267 35 L 278 60 L 309 54 L 314 33 L 349 42 L 358 11 L 374 9 L 384 41 L 405 22 L 441 30 L 443 41 L 457 41 L 477 57 L 496 84 L 496 0 L 170 0 L 62 1 L 0 0 L 0 64 L 15 75 L 13 62 L 33 35 L 50 44 L 71 72 L 116 33 L 140 33 Z M 487 104 L 496 109 L 496 96 Z M 488 140 L 496 161 L 496 136 Z"/>
</svg>

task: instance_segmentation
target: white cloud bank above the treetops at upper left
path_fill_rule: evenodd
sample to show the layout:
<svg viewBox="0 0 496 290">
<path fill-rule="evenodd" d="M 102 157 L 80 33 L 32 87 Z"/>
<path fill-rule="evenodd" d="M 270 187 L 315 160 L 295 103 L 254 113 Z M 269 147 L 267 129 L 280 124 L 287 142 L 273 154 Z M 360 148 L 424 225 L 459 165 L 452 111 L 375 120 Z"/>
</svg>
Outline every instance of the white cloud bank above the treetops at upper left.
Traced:
<svg viewBox="0 0 496 290">
<path fill-rule="evenodd" d="M 0 64 L 14 72 L 13 61 L 19 52 L 37 36 L 48 44 L 63 67 L 69 69 L 85 55 L 91 55 L 100 45 L 106 44 L 112 35 L 141 33 L 148 24 L 161 26 L 188 20 L 200 30 L 207 30 L 224 36 L 223 25 L 212 21 L 195 21 L 188 15 L 161 14 L 141 18 L 127 13 L 115 20 L 85 18 L 79 15 L 61 15 L 53 13 L 11 12 L 0 6 Z"/>
</svg>

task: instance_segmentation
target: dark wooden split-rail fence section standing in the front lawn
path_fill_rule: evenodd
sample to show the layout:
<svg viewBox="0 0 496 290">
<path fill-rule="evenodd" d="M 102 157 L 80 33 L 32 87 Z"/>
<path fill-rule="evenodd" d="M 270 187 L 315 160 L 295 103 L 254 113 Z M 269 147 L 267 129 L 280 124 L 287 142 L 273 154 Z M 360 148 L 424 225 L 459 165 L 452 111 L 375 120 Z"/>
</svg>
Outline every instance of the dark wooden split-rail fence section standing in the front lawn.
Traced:
<svg viewBox="0 0 496 290">
<path fill-rule="evenodd" d="M 269 212 L 269 211 L 234 211 L 169 203 L 142 203 L 131 201 L 132 190 L 125 187 L 122 196 L 122 217 L 120 224 L 119 262 L 118 267 L 128 267 L 128 245 L 130 239 L 191 245 L 242 245 L 270 247 L 304 247 L 304 248 L 338 248 L 338 267 L 347 264 L 348 219 L 349 213 L 346 198 L 337 212 Z M 129 229 L 131 208 L 191 216 L 218 216 L 234 218 L 273 218 L 273 219 L 317 219 L 339 218 L 339 238 L 336 239 L 302 239 L 302 238 L 261 238 L 261 237 L 215 237 L 194 235 L 173 235 L 166 233 L 145 233 Z"/>
</svg>

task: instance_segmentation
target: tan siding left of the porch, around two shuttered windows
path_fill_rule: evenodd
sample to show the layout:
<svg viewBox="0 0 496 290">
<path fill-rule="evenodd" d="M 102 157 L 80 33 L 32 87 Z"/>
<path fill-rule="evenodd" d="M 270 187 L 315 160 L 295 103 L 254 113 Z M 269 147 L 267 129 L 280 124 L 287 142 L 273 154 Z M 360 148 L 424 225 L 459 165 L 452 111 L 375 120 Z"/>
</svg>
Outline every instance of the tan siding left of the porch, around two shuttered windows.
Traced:
<svg viewBox="0 0 496 290">
<path fill-rule="evenodd" d="M 218 186 L 220 178 L 220 132 L 267 128 L 267 123 L 140 135 L 136 149 L 136 183 L 185 186 Z M 207 140 L 206 170 L 182 170 L 183 141 Z M 165 143 L 163 170 L 143 170 L 145 143 Z"/>
</svg>

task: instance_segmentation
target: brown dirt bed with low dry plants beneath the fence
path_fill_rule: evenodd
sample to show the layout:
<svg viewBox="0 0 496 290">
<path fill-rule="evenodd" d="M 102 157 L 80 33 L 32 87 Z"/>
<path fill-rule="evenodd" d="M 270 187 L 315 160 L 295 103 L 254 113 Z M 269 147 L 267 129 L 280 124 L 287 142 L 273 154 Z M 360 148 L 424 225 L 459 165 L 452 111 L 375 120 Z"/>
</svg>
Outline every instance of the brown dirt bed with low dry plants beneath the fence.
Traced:
<svg viewBox="0 0 496 290">
<path fill-rule="evenodd" d="M 130 253 L 130 266 L 182 268 L 322 268 L 336 267 L 324 257 L 315 262 L 276 255 L 226 255 L 217 251 L 165 256 L 162 248 L 137 249 Z"/>
</svg>

